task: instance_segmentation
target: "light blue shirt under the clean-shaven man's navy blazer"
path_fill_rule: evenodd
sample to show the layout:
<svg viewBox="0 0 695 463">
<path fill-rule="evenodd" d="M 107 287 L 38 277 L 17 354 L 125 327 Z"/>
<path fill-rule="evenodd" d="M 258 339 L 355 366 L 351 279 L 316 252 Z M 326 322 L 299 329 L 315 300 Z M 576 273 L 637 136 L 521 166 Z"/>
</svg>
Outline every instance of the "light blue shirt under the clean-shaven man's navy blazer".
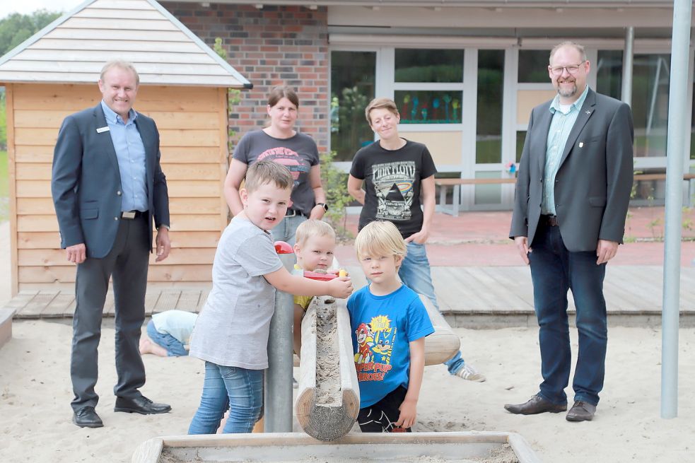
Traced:
<svg viewBox="0 0 695 463">
<path fill-rule="evenodd" d="M 146 211 L 145 146 L 135 125 L 138 113 L 131 109 L 128 113 L 128 122 L 124 124 L 122 117 L 108 107 L 103 100 L 101 107 L 104 110 L 106 124 L 109 126 L 111 141 L 118 159 L 123 193 L 121 211 Z"/>
</svg>

